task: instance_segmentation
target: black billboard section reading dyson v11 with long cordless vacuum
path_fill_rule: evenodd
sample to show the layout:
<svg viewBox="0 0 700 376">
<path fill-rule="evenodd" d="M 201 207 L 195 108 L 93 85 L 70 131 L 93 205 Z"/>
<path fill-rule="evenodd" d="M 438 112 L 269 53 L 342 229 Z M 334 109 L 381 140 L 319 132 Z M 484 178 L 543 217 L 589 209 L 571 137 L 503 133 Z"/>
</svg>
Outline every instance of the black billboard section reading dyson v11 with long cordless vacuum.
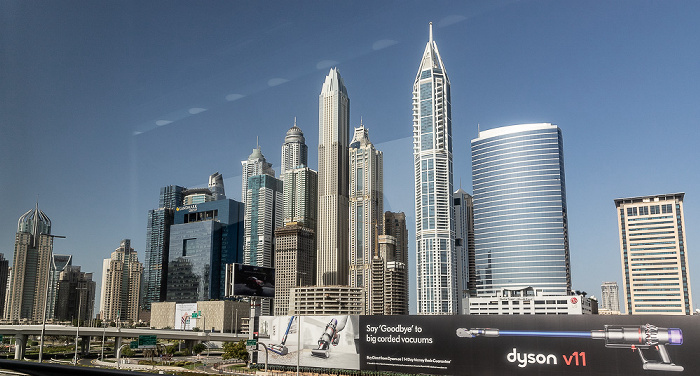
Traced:
<svg viewBox="0 0 700 376">
<path fill-rule="evenodd" d="M 700 317 L 361 316 L 362 370 L 442 375 L 693 375 Z"/>
</svg>

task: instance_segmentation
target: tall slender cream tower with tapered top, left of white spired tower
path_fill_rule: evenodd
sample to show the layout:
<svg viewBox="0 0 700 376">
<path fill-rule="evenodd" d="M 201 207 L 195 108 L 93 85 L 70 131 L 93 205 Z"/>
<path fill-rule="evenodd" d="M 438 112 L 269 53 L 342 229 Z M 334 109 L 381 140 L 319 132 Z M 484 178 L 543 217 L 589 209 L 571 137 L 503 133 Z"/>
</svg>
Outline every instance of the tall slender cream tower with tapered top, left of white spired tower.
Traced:
<svg viewBox="0 0 700 376">
<path fill-rule="evenodd" d="M 348 137 L 350 100 L 332 68 L 318 98 L 316 284 L 348 284 Z"/>
</svg>

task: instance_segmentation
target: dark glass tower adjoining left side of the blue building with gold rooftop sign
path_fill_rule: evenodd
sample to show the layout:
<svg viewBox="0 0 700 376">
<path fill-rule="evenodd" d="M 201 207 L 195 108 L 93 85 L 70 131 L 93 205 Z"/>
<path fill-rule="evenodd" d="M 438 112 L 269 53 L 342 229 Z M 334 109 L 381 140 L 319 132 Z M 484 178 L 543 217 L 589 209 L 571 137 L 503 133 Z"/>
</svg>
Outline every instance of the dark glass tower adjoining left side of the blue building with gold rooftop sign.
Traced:
<svg viewBox="0 0 700 376">
<path fill-rule="evenodd" d="M 185 190 L 185 187 L 178 185 L 169 185 L 161 188 L 158 198 L 158 209 L 148 211 L 146 265 L 142 293 L 142 304 L 145 310 L 151 309 L 151 303 L 165 300 L 165 280 L 168 273 L 170 250 L 170 226 L 173 224 L 175 208 L 182 205 Z"/>
</svg>

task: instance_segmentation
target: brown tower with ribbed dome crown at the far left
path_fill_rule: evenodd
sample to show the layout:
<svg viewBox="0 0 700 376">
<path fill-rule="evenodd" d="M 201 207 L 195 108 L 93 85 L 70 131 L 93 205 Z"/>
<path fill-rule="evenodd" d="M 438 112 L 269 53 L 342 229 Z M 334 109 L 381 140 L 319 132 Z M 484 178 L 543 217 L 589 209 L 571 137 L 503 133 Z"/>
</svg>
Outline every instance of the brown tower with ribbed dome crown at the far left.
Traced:
<svg viewBox="0 0 700 376">
<path fill-rule="evenodd" d="M 8 319 L 43 320 L 52 251 L 51 220 L 37 204 L 17 222 Z"/>
</svg>

